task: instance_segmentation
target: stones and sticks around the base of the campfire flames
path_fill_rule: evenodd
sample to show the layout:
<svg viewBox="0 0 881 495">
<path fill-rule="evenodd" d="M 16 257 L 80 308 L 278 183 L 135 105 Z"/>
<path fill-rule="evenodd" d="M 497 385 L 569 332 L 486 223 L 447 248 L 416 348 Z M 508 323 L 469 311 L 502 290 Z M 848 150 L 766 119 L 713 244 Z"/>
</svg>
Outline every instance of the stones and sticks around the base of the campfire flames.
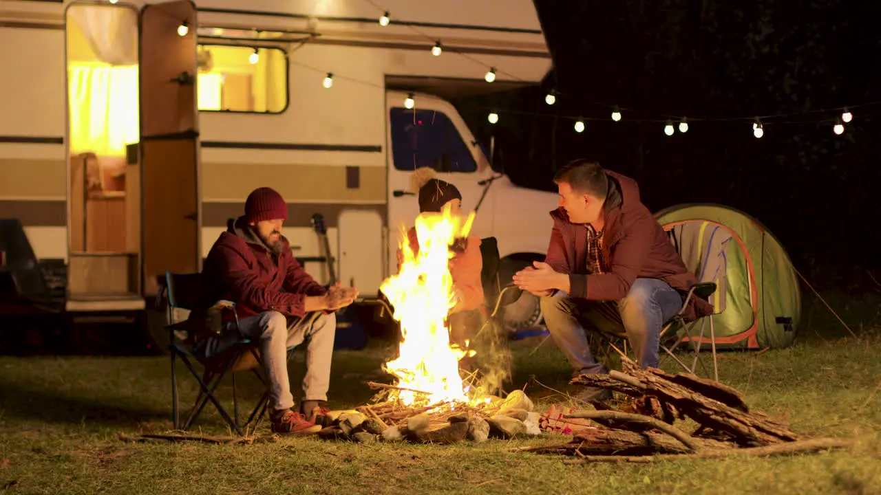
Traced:
<svg viewBox="0 0 881 495">
<path fill-rule="evenodd" d="M 490 438 L 512 439 L 538 435 L 540 414 L 522 390 L 502 399 L 486 397 L 480 405 L 462 402 L 404 405 L 388 392 L 396 388 L 368 382 L 383 391 L 374 402 L 354 410 L 330 411 L 318 436 L 325 440 L 352 440 L 362 443 L 405 441 L 451 444 Z M 418 392 L 411 390 L 412 392 Z"/>
</svg>

